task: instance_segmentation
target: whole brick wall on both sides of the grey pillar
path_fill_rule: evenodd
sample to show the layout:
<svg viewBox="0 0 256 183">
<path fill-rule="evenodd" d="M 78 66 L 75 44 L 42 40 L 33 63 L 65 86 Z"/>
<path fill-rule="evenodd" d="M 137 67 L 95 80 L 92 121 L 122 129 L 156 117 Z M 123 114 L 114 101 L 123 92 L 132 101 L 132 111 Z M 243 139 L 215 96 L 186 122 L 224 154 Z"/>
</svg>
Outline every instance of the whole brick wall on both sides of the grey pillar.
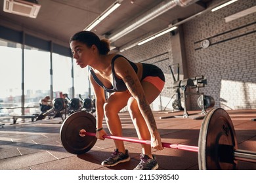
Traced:
<svg viewBox="0 0 256 183">
<path fill-rule="evenodd" d="M 236 1 L 228 8 L 207 12 L 182 25 L 187 64 L 183 67 L 188 68 L 190 78 L 200 75 L 207 78 L 207 86 L 200 88 L 200 92 L 214 97 L 215 107 L 256 108 L 256 13 L 224 22 L 224 17 L 255 5 L 255 0 Z M 206 49 L 200 48 L 203 39 L 211 41 Z M 152 105 L 153 110 L 163 110 L 175 93 L 167 89 L 173 84 L 168 68 L 173 64 L 172 47 L 175 46 L 171 40 L 171 34 L 167 33 L 121 53 L 135 62 L 147 59 L 146 63 L 154 63 L 165 59 L 156 63 L 165 73 L 166 84 Z M 192 109 L 198 109 L 196 96 L 191 97 L 190 103 Z M 171 109 L 171 103 L 167 109 Z"/>
</svg>

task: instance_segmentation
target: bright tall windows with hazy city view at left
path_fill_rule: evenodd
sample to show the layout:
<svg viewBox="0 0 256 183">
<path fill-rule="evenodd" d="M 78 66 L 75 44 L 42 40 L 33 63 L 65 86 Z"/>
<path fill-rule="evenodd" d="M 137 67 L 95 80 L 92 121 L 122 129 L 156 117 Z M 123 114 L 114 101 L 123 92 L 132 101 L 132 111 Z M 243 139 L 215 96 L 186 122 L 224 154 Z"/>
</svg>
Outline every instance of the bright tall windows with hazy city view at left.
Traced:
<svg viewBox="0 0 256 183">
<path fill-rule="evenodd" d="M 22 46 L 0 40 L 0 115 L 21 114 L 22 106 Z M 74 69 L 74 81 L 72 78 Z M 24 107 L 37 106 L 39 100 L 51 94 L 51 53 L 25 46 L 24 49 Z M 74 88 L 74 90 L 72 90 Z M 74 93 L 72 93 L 74 91 Z M 67 93 L 78 98 L 89 96 L 88 68 L 81 69 L 72 58 L 53 53 L 53 98 Z M 30 110 L 26 110 L 31 113 Z"/>
</svg>

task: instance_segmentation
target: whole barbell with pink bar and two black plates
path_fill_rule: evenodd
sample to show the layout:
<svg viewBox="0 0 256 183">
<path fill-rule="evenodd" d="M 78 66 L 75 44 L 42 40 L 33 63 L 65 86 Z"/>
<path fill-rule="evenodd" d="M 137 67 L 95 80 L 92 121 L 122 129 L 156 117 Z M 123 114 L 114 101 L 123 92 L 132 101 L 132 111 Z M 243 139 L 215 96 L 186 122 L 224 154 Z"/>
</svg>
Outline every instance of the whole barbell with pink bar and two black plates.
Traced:
<svg viewBox="0 0 256 183">
<path fill-rule="evenodd" d="M 85 154 L 95 145 L 96 119 L 85 111 L 74 112 L 60 127 L 62 146 L 72 154 Z M 104 135 L 106 139 L 151 144 L 150 141 Z M 199 169 L 237 169 L 238 161 L 256 163 L 256 152 L 238 150 L 230 116 L 223 108 L 207 112 L 200 128 L 198 146 L 162 142 L 165 148 L 198 152 Z"/>
</svg>

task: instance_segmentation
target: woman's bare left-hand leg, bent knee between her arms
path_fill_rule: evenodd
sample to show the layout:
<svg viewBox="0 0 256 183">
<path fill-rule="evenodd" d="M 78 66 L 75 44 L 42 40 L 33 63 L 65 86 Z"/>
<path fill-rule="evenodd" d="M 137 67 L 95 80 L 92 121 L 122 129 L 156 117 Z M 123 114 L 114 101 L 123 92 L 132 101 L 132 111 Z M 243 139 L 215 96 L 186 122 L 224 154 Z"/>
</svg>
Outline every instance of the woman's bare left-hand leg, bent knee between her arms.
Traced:
<svg viewBox="0 0 256 183">
<path fill-rule="evenodd" d="M 118 112 L 127 105 L 130 96 L 131 94 L 128 92 L 115 92 L 110 95 L 104 104 L 106 123 L 112 135 L 120 137 L 123 135 Z M 114 140 L 114 142 L 119 152 L 125 153 L 123 141 Z"/>
</svg>

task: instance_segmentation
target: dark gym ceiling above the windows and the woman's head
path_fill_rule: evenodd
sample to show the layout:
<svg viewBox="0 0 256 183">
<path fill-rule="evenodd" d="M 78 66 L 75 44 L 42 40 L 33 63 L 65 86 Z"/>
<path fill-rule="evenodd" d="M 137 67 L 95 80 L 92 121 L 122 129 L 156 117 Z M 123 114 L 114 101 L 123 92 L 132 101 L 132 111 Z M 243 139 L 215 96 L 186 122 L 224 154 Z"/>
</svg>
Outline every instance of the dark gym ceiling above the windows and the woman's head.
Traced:
<svg viewBox="0 0 256 183">
<path fill-rule="evenodd" d="M 111 37 L 134 22 L 137 17 L 164 3 L 163 0 L 134 0 L 133 3 L 131 0 L 119 1 L 121 6 L 92 29 L 100 37 Z M 157 33 L 170 24 L 205 10 L 207 3 L 211 1 L 196 1 L 186 7 L 176 5 L 123 37 L 112 41 L 111 44 L 118 49 L 147 35 Z M 12 25 L 12 27 L 15 25 L 19 29 L 28 30 L 36 35 L 54 38 L 65 44 L 64 46 L 68 46 L 68 41 L 75 32 L 85 29 L 115 2 L 116 0 L 38 0 L 41 9 L 37 18 L 28 18 L 4 12 L 3 0 L 0 0 L 0 24 Z"/>
</svg>

